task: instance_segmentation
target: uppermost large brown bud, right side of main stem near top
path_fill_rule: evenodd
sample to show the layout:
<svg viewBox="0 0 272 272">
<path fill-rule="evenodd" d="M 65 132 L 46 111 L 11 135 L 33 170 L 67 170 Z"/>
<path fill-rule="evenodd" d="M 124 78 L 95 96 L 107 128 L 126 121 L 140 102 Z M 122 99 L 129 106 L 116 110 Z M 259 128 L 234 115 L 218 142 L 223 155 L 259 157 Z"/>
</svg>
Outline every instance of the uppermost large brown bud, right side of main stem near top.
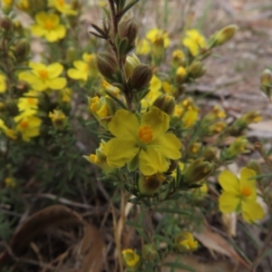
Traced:
<svg viewBox="0 0 272 272">
<path fill-rule="evenodd" d="M 139 24 L 135 17 L 132 17 L 126 21 L 121 21 L 121 24 L 119 24 L 119 35 L 121 38 L 128 39 L 128 47 L 131 47 L 135 44 L 138 33 Z"/>
</svg>

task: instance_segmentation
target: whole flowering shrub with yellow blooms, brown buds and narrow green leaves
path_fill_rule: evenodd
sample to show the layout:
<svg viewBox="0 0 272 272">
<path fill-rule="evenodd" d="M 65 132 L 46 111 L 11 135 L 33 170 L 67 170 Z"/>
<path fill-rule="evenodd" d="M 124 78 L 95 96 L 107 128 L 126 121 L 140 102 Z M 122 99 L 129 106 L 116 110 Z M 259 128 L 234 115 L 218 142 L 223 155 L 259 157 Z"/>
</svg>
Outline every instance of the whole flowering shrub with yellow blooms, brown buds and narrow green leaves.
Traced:
<svg viewBox="0 0 272 272">
<path fill-rule="evenodd" d="M 139 234 L 135 248 L 123 248 L 113 219 L 120 271 L 123 265 L 128 271 L 160 271 L 170 252 L 197 250 L 193 233 L 201 224 L 196 223 L 195 203 L 205 202 L 209 188 L 219 196 L 212 201 L 218 207 L 215 212 L 241 213 L 248 224 L 265 217 L 258 199 L 270 207 L 269 182 L 262 183 L 258 164 L 248 163 L 239 178 L 226 170 L 248 151 L 245 131 L 261 116 L 246 112 L 229 122 L 220 105 L 203 112 L 188 92 L 189 85 L 205 75 L 205 59 L 232 38 L 236 25 L 210 37 L 187 29 L 167 63 L 171 43 L 167 31 L 150 29 L 141 39 L 137 19 L 129 17 L 137 0 L 109 0 L 103 5 L 109 19 L 92 24 L 91 31 L 105 41 L 99 52 L 80 43 L 82 5 L 77 1 L 2 2 L 0 194 L 4 204 L 13 203 L 15 210 L 23 211 L 20 196 L 34 190 L 66 197 L 76 197 L 82 190 L 95 193 L 96 183 L 91 180 L 101 170 L 101 180 L 114 186 L 108 193 L 121 210 L 121 231 L 126 231 L 126 202 L 138 210 L 126 222 Z M 32 17 L 29 28 L 15 24 L 14 5 Z M 39 62 L 33 59 L 32 35 L 44 46 Z M 144 59 L 148 63 L 141 63 Z M 167 68 L 160 73 L 165 63 Z M 268 96 L 271 74 L 266 70 L 261 82 Z M 268 154 L 261 146 L 257 149 L 271 169 Z M 29 180 L 34 185 L 27 186 Z M 118 203 L 113 198 L 116 190 L 121 193 Z M 160 222 L 152 220 L 155 212 L 160 213 Z M 15 223 L 11 226 L 15 228 Z"/>
</svg>

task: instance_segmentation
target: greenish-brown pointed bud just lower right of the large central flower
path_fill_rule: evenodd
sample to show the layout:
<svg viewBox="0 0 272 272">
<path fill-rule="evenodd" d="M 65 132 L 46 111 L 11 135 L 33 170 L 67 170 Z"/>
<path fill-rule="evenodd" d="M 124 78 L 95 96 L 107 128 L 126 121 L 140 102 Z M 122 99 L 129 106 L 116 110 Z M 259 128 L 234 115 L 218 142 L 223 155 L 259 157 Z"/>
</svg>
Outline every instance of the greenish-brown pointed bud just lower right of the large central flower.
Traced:
<svg viewBox="0 0 272 272">
<path fill-rule="evenodd" d="M 184 170 L 184 179 L 188 183 L 196 183 L 199 180 L 204 180 L 207 178 L 213 169 L 213 163 L 210 163 L 204 158 L 199 158 L 194 160 L 189 167 Z"/>
</svg>

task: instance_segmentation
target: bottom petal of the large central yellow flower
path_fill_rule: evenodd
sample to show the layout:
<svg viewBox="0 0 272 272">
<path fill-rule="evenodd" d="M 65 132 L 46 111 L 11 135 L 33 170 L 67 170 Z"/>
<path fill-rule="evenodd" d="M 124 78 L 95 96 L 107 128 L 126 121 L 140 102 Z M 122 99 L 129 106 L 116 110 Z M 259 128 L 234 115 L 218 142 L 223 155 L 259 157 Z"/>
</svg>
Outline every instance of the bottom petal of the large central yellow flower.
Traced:
<svg viewBox="0 0 272 272">
<path fill-rule="evenodd" d="M 148 147 L 139 153 L 139 169 L 145 176 L 151 176 L 169 169 L 169 161 L 161 156 L 160 152 Z"/>
</svg>

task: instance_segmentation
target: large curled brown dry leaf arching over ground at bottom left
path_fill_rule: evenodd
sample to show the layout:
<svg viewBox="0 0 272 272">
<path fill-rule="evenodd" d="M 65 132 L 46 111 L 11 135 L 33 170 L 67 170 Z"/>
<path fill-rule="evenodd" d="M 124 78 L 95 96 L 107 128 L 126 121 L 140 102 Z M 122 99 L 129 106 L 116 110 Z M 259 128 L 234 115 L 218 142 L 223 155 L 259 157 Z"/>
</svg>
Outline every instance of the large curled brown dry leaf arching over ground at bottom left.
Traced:
<svg viewBox="0 0 272 272">
<path fill-rule="evenodd" d="M 62 205 L 53 205 L 34 213 L 16 229 L 9 247 L 14 257 L 22 257 L 29 248 L 30 243 L 39 234 L 44 233 L 49 228 L 82 226 L 84 235 L 78 257 L 81 261 L 79 272 L 100 272 L 102 271 L 104 247 L 103 239 L 99 231 L 89 223 L 85 222 L 82 216 Z M 9 252 L 0 254 L 0 267 L 10 259 Z"/>
</svg>

